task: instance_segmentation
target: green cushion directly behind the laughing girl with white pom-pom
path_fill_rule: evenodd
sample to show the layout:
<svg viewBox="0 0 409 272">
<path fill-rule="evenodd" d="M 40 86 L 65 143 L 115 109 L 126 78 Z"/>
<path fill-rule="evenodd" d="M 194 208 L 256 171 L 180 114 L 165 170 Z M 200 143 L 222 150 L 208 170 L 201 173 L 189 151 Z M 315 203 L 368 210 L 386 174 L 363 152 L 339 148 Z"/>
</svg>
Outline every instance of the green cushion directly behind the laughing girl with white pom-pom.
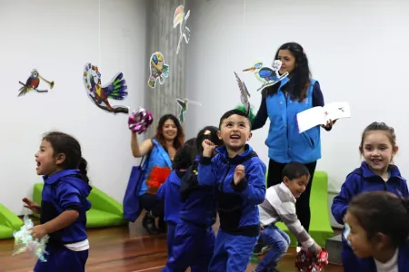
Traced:
<svg viewBox="0 0 409 272">
<path fill-rule="evenodd" d="M 44 184 L 36 183 L 33 189 L 33 200 L 41 203 L 41 193 Z M 100 189 L 93 186 L 88 200 L 92 207 L 86 212 L 86 228 L 104 228 L 125 225 L 123 208 L 115 199 L 109 197 Z M 35 215 L 39 218 L 39 215 Z"/>
</svg>

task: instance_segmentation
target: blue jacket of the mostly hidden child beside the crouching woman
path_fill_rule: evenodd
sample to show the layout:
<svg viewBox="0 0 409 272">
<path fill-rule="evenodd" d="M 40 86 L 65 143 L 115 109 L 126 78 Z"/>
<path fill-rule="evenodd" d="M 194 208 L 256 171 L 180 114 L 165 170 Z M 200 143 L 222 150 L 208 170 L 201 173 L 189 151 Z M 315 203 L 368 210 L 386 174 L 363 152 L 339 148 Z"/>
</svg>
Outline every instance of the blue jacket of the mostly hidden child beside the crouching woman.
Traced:
<svg viewBox="0 0 409 272">
<path fill-rule="evenodd" d="M 185 172 L 173 170 L 165 183 L 158 189 L 156 197 L 159 200 L 165 200 L 165 221 L 168 223 L 179 223 L 179 210 L 181 207 L 180 199 L 180 178 Z"/>
</svg>

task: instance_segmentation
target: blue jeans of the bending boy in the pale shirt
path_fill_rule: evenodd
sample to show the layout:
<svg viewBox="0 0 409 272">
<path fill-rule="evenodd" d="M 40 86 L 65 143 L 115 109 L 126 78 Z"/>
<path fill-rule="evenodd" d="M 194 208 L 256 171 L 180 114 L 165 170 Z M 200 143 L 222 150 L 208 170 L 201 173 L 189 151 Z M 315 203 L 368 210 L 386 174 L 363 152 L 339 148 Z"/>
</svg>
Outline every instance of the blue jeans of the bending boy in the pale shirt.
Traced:
<svg viewBox="0 0 409 272">
<path fill-rule="evenodd" d="M 290 237 L 275 225 L 264 228 L 260 237 L 271 249 L 267 252 L 255 269 L 256 272 L 266 272 L 277 266 L 277 262 L 284 256 L 290 246 Z"/>
</svg>

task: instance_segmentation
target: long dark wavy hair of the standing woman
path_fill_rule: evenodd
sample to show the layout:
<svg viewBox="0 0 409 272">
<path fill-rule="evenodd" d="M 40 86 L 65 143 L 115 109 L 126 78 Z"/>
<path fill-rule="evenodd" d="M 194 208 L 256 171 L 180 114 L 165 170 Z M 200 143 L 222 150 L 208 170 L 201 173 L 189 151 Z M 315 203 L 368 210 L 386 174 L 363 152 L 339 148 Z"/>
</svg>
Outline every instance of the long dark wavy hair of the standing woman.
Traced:
<svg viewBox="0 0 409 272">
<path fill-rule="evenodd" d="M 277 52 L 275 53 L 274 60 L 278 59 L 278 53 L 280 50 L 285 49 L 293 54 L 295 58 L 295 67 L 293 72 L 290 74 L 290 82 L 286 83 L 283 89 L 289 92 L 291 99 L 302 102 L 306 98 L 306 91 L 310 84 L 311 71 L 310 67 L 308 66 L 308 58 L 304 52 L 303 46 L 297 43 L 286 43 L 278 48 Z M 279 87 L 280 83 L 276 83 L 273 86 L 265 88 L 263 90 L 264 96 L 277 93 Z"/>
</svg>

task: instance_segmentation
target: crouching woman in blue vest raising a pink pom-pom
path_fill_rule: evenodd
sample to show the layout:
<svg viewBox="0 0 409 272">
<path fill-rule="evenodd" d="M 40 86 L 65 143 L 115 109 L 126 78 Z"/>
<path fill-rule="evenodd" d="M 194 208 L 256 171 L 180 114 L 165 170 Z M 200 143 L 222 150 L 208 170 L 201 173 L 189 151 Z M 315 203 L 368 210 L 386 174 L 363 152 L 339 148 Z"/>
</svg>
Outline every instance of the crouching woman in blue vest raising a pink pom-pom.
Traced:
<svg viewBox="0 0 409 272">
<path fill-rule="evenodd" d="M 147 210 L 142 225 L 149 234 L 166 231 L 165 204 L 156 198 L 156 191 L 161 184 L 154 186 L 155 182 L 151 182 L 150 178 L 154 174 L 156 176 L 164 176 L 164 172 L 170 174 L 175 153 L 184 144 L 184 141 L 184 130 L 173 114 L 165 114 L 161 117 L 155 137 L 152 139 L 147 139 L 139 144 L 136 133 L 132 133 L 131 148 L 134 157 L 148 156 L 145 178 L 139 191 L 139 202 L 141 207 Z M 162 171 L 162 173 L 158 173 L 158 171 Z M 152 180 L 155 181 L 155 179 Z M 165 179 L 162 180 L 165 182 Z M 159 228 L 155 225 L 155 218 L 159 218 Z"/>
</svg>

